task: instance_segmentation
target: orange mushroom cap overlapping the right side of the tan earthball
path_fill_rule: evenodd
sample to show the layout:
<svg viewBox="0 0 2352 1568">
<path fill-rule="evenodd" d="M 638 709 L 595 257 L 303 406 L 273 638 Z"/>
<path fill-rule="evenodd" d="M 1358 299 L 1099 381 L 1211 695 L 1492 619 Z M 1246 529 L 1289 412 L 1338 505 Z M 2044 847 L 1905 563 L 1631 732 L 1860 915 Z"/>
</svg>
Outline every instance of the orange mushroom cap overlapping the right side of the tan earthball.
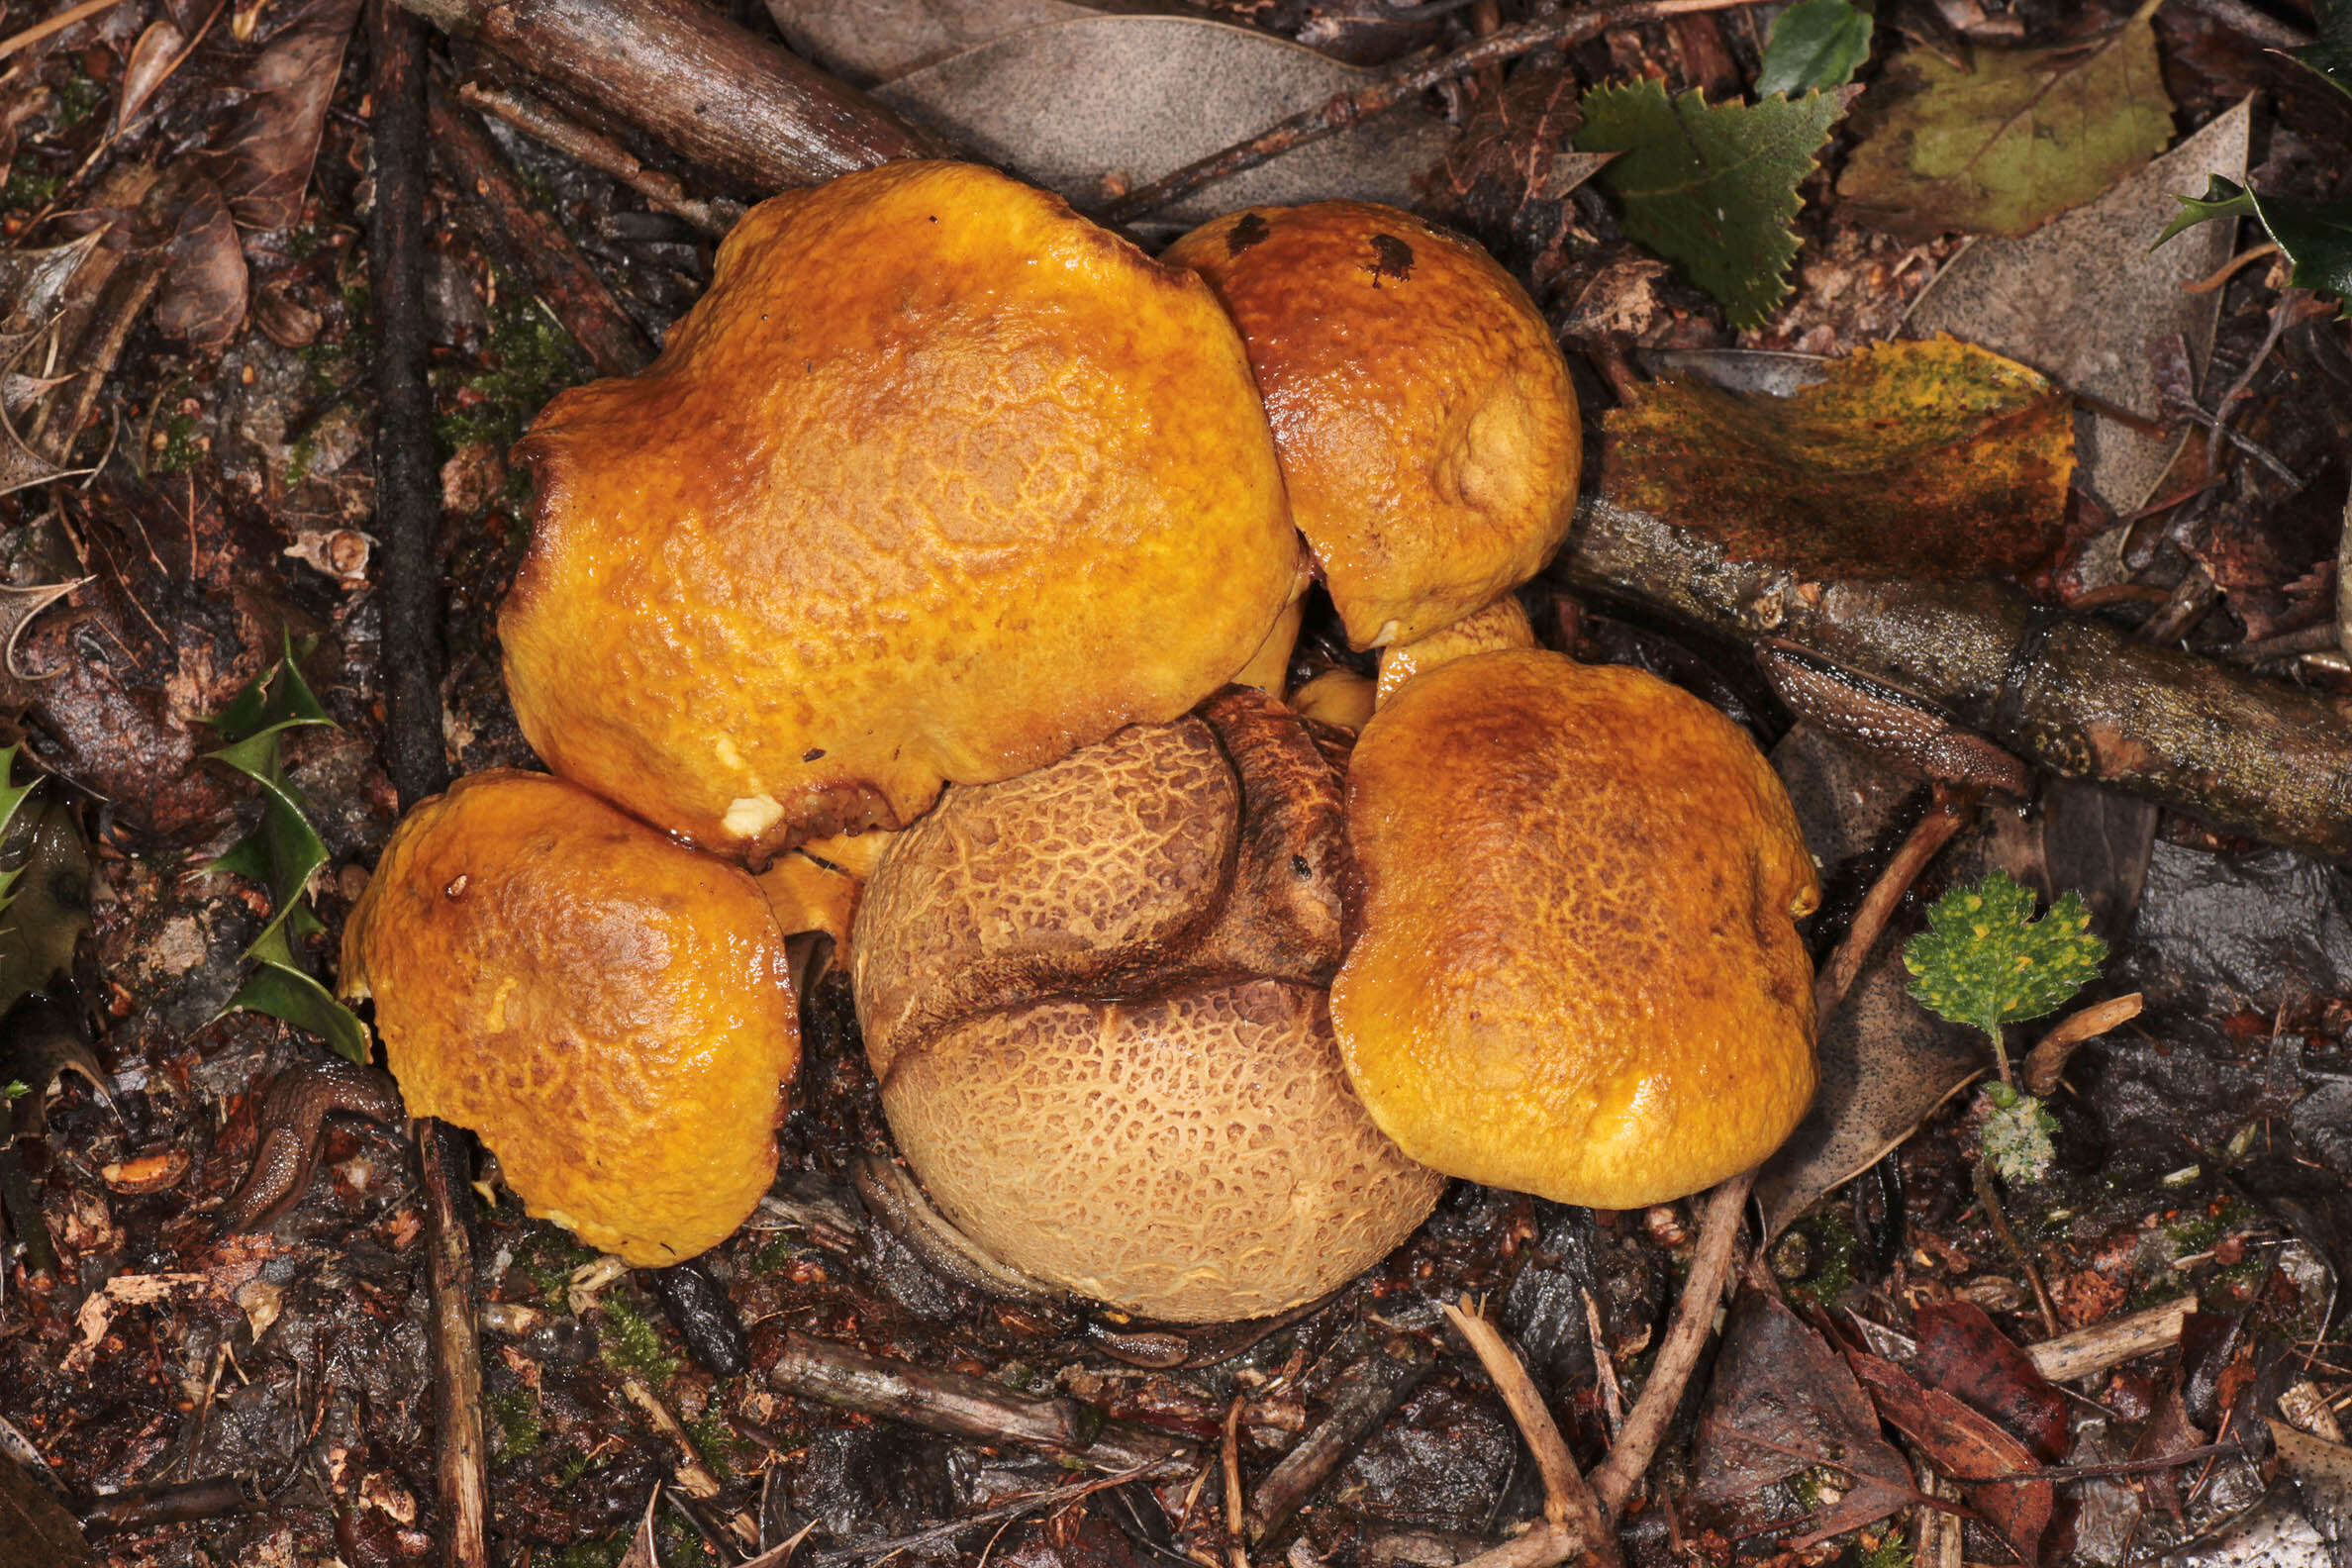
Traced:
<svg viewBox="0 0 2352 1568">
<path fill-rule="evenodd" d="M 1813 1098 L 1820 903 L 1748 736 L 1639 670 L 1541 649 L 1404 682 L 1357 738 L 1357 938 L 1331 1025 L 1371 1119 L 1446 1175 L 1663 1204 Z"/>
</svg>

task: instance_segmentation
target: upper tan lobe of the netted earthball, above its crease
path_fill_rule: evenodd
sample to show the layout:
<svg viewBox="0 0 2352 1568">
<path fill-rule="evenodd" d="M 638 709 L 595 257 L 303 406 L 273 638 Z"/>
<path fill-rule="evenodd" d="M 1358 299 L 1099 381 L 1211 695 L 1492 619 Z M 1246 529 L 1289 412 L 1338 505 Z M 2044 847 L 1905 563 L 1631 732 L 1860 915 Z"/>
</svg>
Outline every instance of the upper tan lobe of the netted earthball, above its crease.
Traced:
<svg viewBox="0 0 2352 1568">
<path fill-rule="evenodd" d="M 948 790 L 858 905 L 866 1056 L 983 1006 L 1112 990 L 1225 893 L 1242 792 L 1200 719 L 1136 724 L 1049 769 Z"/>
</svg>

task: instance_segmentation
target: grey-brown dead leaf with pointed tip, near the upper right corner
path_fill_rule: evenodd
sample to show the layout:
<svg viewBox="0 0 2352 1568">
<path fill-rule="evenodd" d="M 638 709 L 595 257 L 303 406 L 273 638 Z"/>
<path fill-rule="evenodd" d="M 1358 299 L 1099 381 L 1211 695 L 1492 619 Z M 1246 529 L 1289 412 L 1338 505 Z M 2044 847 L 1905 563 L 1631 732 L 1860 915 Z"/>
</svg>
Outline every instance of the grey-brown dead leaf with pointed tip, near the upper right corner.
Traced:
<svg viewBox="0 0 2352 1568">
<path fill-rule="evenodd" d="M 2140 418 L 2161 418 L 2150 348 L 2183 336 L 2204 374 L 2220 315 L 2220 292 L 2187 294 L 2230 256 L 2230 223 L 2204 223 L 2150 249 L 2180 195 L 2206 179 L 2246 179 L 2251 101 L 2216 118 L 2089 207 L 2034 233 L 1985 237 L 1952 256 L 1919 294 L 1905 336 L 1950 331 L 1957 339 L 2032 364 L 2074 393 L 2089 393 Z M 2077 451 L 2091 489 L 2114 512 L 2143 508 L 2180 449 L 2093 414 L 2074 416 Z"/>
</svg>

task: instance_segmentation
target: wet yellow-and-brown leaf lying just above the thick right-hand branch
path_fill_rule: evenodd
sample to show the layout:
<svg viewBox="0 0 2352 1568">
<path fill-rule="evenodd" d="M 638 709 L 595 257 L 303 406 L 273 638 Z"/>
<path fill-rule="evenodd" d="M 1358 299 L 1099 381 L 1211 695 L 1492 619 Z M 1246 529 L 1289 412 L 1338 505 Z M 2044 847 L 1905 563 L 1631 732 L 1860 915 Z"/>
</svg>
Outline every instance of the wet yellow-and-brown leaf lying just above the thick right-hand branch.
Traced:
<svg viewBox="0 0 2352 1568">
<path fill-rule="evenodd" d="M 1877 343 L 1790 397 L 1658 381 L 1606 416 L 1602 491 L 1818 576 L 2023 574 L 2060 543 L 2074 430 L 2042 374 Z"/>
</svg>

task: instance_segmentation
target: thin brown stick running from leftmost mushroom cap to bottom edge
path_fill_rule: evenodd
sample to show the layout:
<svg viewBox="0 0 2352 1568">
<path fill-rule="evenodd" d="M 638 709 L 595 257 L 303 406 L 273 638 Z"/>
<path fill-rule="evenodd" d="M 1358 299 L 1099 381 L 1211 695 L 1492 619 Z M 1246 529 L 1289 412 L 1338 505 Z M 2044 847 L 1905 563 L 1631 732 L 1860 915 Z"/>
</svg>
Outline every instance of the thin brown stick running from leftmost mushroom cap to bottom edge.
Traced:
<svg viewBox="0 0 2352 1568">
<path fill-rule="evenodd" d="M 426 1194 L 426 1286 L 433 1300 L 433 1469 L 440 1481 L 442 1566 L 489 1568 L 489 1481 L 482 1448 L 482 1345 L 466 1229 L 466 1133 L 409 1124 Z"/>
</svg>

